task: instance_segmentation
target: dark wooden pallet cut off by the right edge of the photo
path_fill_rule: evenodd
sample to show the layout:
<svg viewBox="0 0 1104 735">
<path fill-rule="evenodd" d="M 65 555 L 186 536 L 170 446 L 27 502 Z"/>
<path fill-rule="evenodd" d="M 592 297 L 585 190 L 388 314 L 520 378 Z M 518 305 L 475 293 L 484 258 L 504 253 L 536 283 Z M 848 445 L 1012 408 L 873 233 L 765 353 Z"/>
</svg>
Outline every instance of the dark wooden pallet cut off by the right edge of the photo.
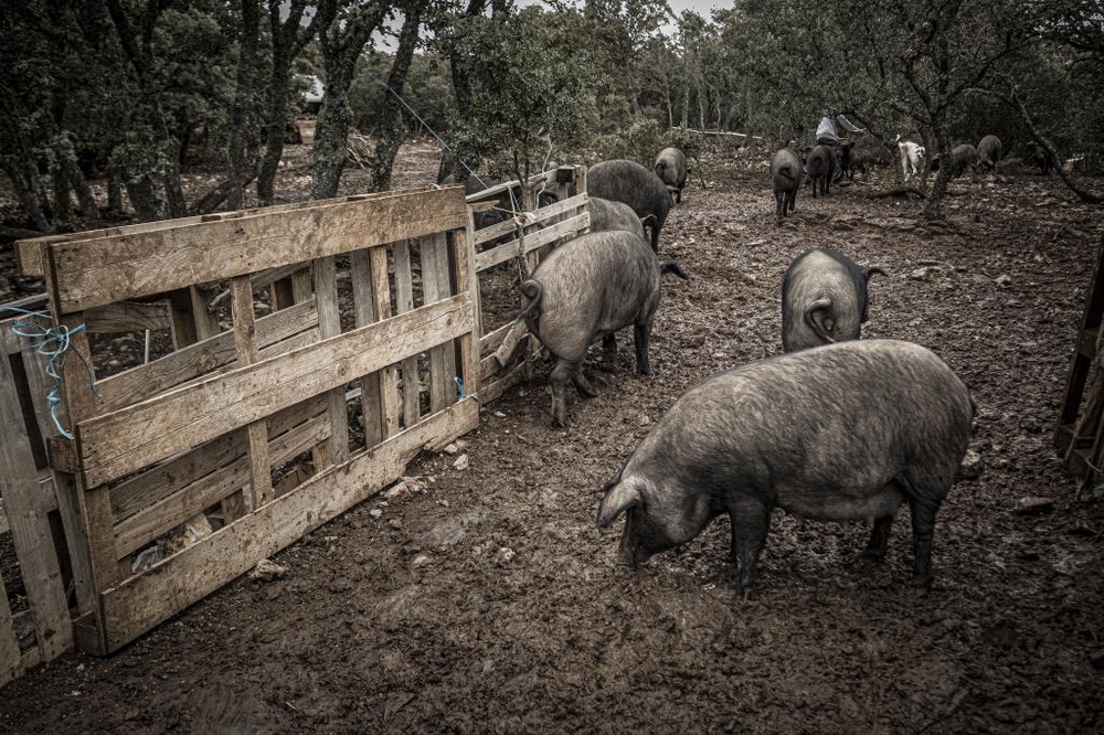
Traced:
<svg viewBox="0 0 1104 735">
<path fill-rule="evenodd" d="M 1098 482 L 1102 475 L 1101 456 L 1104 452 L 1104 247 L 1097 254 L 1093 280 L 1085 300 L 1085 313 L 1070 362 L 1070 376 L 1065 395 L 1059 408 L 1054 429 L 1054 447 L 1063 458 L 1066 470 L 1075 479 Z M 1085 401 L 1089 376 L 1096 375 Z M 1085 403 L 1085 406 L 1082 406 Z"/>
</svg>

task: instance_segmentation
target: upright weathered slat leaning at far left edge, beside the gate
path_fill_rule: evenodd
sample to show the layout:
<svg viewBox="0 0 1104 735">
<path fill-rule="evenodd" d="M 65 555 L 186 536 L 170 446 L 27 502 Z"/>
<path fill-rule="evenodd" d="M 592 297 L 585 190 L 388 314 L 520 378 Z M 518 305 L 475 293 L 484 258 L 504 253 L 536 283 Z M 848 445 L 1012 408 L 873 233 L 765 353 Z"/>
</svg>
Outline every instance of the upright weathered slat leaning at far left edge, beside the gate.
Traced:
<svg viewBox="0 0 1104 735">
<path fill-rule="evenodd" d="M 20 416 L 22 409 L 7 356 L 0 356 L 0 416 Z M 4 511 L 19 557 L 20 575 L 34 618 L 38 646 L 47 661 L 73 642 L 65 587 L 46 513 L 56 503 L 39 487 L 31 445 L 22 420 L 0 422 L 0 480 Z M 0 627 L 0 635 L 2 635 Z"/>
</svg>

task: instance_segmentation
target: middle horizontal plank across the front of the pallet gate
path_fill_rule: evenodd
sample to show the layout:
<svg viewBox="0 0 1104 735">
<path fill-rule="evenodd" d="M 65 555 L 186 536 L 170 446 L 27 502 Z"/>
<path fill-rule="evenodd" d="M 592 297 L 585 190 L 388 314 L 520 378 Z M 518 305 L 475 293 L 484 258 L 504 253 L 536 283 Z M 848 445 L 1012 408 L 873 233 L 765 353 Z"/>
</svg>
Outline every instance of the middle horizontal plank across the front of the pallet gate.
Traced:
<svg viewBox="0 0 1104 735">
<path fill-rule="evenodd" d="M 109 482 L 382 370 L 470 330 L 471 311 L 463 294 L 89 418 L 77 426 L 84 476 L 92 484 Z"/>
</svg>

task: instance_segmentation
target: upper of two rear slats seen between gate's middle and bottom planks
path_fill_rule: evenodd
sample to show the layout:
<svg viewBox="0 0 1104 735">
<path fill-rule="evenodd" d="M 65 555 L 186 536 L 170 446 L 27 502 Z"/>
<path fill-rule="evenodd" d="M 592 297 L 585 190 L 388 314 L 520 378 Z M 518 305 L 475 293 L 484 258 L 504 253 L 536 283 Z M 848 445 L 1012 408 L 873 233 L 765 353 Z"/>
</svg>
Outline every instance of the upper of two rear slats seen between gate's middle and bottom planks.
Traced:
<svg viewBox="0 0 1104 735">
<path fill-rule="evenodd" d="M 267 422 L 269 441 L 321 414 L 326 409 L 325 404 L 323 396 L 316 396 L 272 415 Z M 117 520 L 125 520 L 180 488 L 210 477 L 220 467 L 237 461 L 245 455 L 246 448 L 245 434 L 232 432 L 173 457 L 112 488 L 112 511 Z M 242 484 L 247 481 L 248 478 L 244 479 Z"/>
</svg>

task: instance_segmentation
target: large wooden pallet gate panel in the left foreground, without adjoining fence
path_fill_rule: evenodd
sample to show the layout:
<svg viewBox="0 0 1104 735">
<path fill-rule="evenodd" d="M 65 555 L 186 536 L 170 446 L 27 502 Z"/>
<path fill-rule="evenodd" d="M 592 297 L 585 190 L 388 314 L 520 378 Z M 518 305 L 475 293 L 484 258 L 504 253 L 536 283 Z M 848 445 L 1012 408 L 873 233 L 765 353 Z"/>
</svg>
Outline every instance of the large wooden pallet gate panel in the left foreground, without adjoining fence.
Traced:
<svg viewBox="0 0 1104 735">
<path fill-rule="evenodd" d="M 82 649 L 118 649 L 476 426 L 456 388 L 479 386 L 466 231 L 452 188 L 20 244 L 54 322 L 87 324 L 61 371 L 75 438 L 47 443 L 79 519 Z M 105 313 L 172 350 L 94 388 Z"/>
</svg>

